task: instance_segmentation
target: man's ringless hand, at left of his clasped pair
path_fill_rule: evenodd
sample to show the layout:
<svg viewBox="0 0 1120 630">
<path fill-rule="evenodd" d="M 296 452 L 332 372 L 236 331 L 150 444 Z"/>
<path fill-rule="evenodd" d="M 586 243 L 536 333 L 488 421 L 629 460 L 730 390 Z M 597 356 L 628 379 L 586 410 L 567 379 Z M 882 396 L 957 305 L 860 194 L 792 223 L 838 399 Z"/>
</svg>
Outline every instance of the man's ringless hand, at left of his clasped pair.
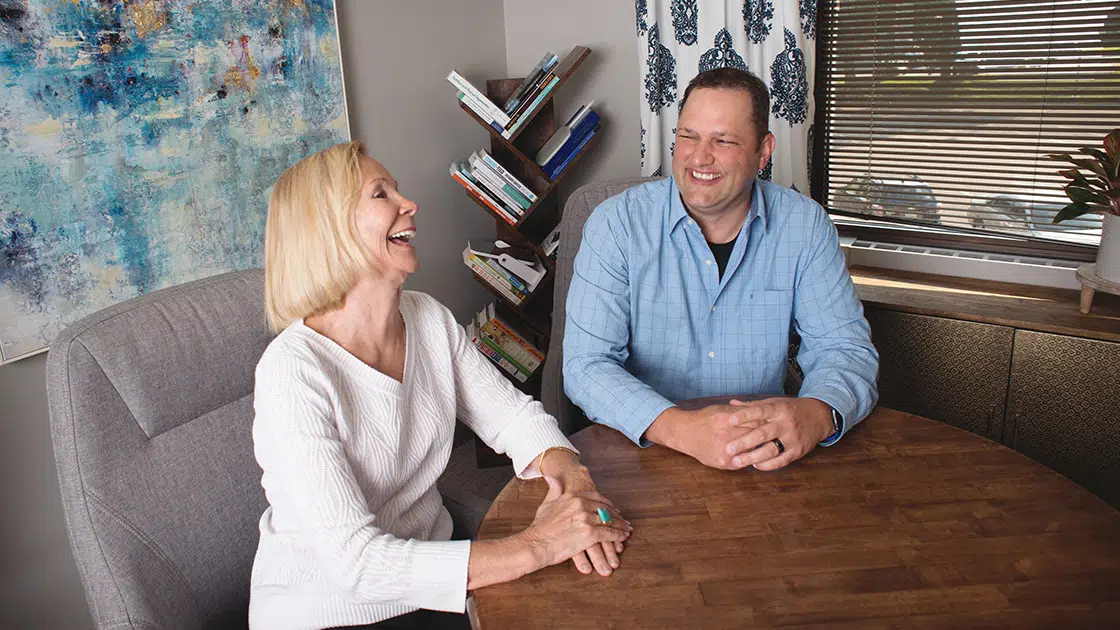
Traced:
<svg viewBox="0 0 1120 630">
<path fill-rule="evenodd" d="M 731 460 L 738 451 L 728 448 L 763 425 L 763 420 L 748 418 L 744 411 L 743 407 L 731 405 L 711 405 L 692 411 L 672 407 L 653 420 L 645 437 L 712 469 L 741 469 Z"/>
</svg>

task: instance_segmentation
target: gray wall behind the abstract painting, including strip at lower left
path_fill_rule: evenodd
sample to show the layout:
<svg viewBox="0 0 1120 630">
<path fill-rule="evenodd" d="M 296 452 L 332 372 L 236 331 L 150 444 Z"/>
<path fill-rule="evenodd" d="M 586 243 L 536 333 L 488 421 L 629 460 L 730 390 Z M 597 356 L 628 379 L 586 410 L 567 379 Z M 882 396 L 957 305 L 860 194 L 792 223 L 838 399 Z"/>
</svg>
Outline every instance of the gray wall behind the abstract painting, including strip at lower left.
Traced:
<svg viewBox="0 0 1120 630">
<path fill-rule="evenodd" d="M 447 72 L 505 75 L 502 0 L 338 0 L 351 131 L 420 205 L 421 269 L 410 288 L 461 319 L 486 294 L 463 268 L 467 239 L 494 223 L 447 174 L 486 146 Z M 0 628 L 92 628 L 66 538 L 47 420 L 46 355 L 0 367 Z"/>
</svg>

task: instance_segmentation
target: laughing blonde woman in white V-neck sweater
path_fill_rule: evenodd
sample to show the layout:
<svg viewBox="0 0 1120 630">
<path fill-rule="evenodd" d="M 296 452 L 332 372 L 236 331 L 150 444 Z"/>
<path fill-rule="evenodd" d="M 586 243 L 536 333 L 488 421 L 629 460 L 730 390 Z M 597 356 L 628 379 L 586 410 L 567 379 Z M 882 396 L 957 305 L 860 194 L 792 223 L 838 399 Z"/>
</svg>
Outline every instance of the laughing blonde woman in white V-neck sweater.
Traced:
<svg viewBox="0 0 1120 630">
<path fill-rule="evenodd" d="M 618 566 L 631 525 L 595 490 L 541 405 L 506 381 L 417 270 L 417 205 L 361 145 L 305 158 L 276 183 L 265 307 L 280 334 L 256 367 L 253 444 L 269 508 L 250 626 L 304 630 L 465 624 L 467 590 L 572 559 Z M 436 490 L 456 418 L 549 493 L 524 531 L 449 540 Z M 613 515 L 604 522 L 599 508 Z M 379 623 L 380 622 L 380 623 Z"/>
</svg>

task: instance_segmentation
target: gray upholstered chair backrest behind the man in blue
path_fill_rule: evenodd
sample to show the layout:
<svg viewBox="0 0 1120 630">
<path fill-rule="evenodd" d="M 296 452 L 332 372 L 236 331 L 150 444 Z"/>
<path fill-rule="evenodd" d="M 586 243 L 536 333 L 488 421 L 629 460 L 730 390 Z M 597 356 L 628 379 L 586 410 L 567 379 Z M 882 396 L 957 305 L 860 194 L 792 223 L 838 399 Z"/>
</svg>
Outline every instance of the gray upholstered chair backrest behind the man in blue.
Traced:
<svg viewBox="0 0 1120 630">
<path fill-rule="evenodd" d="M 608 197 L 631 186 L 654 179 L 660 177 L 632 177 L 588 184 L 577 188 L 564 203 L 563 215 L 560 219 L 560 248 L 557 252 L 556 289 L 552 299 L 552 334 L 549 337 L 544 372 L 541 374 L 541 402 L 548 413 L 556 416 L 564 433 L 575 433 L 587 425 L 582 411 L 563 392 L 564 307 L 568 302 L 568 285 L 571 284 L 572 262 L 584 238 L 584 223 L 596 206 Z"/>
</svg>

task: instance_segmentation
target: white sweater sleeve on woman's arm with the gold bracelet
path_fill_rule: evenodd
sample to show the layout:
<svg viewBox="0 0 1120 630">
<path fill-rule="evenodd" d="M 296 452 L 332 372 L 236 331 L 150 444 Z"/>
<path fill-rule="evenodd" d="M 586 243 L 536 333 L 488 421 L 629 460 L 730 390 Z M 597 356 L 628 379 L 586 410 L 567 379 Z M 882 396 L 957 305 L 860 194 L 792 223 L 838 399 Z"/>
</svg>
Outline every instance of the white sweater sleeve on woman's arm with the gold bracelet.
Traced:
<svg viewBox="0 0 1120 630">
<path fill-rule="evenodd" d="M 440 307 L 442 308 L 442 307 Z M 513 387 L 487 360 L 444 308 L 455 369 L 456 415 L 491 448 L 513 460 L 522 479 L 540 476 L 529 471 L 544 450 L 562 446 L 576 451 L 544 407 Z M 576 451 L 578 453 L 578 451 Z"/>
</svg>

